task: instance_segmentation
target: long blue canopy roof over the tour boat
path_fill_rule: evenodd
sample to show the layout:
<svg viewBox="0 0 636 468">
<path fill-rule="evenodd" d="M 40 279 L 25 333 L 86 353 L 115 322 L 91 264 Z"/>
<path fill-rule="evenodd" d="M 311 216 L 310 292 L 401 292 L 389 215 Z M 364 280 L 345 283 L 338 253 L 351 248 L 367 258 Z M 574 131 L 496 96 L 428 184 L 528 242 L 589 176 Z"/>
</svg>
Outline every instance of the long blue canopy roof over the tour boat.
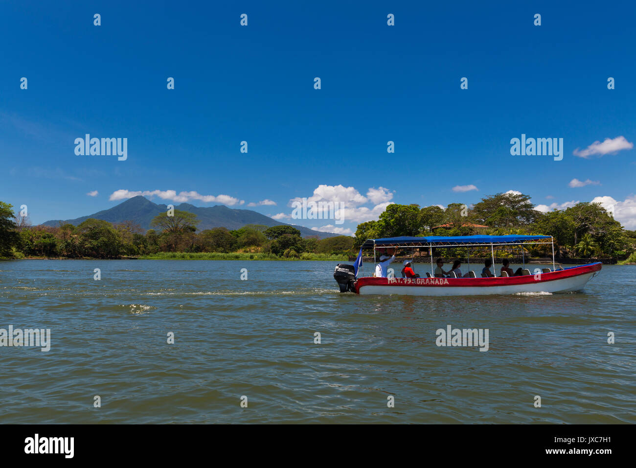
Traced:
<svg viewBox="0 0 636 468">
<path fill-rule="evenodd" d="M 547 243 L 541 242 L 551 239 L 551 236 L 520 236 L 510 234 L 508 236 L 428 236 L 424 238 L 384 238 L 367 239 L 362 248 L 374 247 L 454 247 L 462 245 L 521 245 L 525 243 Z"/>
</svg>

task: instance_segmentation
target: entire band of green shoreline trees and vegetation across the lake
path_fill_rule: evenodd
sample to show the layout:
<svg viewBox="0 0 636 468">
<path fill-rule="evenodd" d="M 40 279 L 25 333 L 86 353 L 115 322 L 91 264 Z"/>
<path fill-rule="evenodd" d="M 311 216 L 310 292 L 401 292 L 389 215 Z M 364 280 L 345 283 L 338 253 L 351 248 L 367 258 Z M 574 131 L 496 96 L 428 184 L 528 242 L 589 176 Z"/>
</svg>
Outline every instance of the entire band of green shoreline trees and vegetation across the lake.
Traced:
<svg viewBox="0 0 636 468">
<path fill-rule="evenodd" d="M 134 220 L 109 223 L 88 218 L 79 225 L 32 226 L 26 215 L 0 201 L 0 259 L 144 259 L 144 260 L 325 260 L 350 261 L 366 239 L 398 236 L 471 236 L 474 234 L 546 234 L 553 236 L 556 261 L 609 260 L 636 264 L 636 231 L 625 229 L 600 204 L 581 202 L 543 213 L 518 192 L 489 195 L 466 206 L 446 208 L 389 204 L 377 221 L 357 225 L 356 234 L 302 238 L 291 225 L 248 224 L 240 229 L 215 227 L 197 231 L 200 221 L 189 211 L 169 209 L 144 230 Z M 510 260 L 552 257 L 551 245 L 496 249 Z M 382 255 L 382 250 L 377 255 Z M 373 251 L 364 253 L 373 257 Z M 490 258 L 490 248 L 433 249 L 434 257 Z M 403 249 L 401 257 L 429 257 L 426 248 Z M 417 261 L 417 260 L 415 260 Z M 482 260 L 483 261 L 483 260 Z"/>
</svg>

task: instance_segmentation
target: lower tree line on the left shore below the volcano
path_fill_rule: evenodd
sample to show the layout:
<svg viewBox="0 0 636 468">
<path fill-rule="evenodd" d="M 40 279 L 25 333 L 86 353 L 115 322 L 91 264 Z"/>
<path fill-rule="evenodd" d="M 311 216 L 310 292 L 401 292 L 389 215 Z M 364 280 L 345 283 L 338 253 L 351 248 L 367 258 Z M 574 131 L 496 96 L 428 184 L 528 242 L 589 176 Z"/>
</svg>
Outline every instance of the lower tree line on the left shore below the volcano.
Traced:
<svg viewBox="0 0 636 468">
<path fill-rule="evenodd" d="M 352 248 L 349 236 L 302 238 L 289 225 L 245 225 L 236 230 L 215 227 L 197 232 L 199 220 L 188 211 L 155 216 L 146 232 L 133 221 L 109 223 L 87 219 L 79 225 L 31 226 L 0 202 L 0 257 L 66 257 L 117 259 L 159 252 L 262 252 L 298 258 L 301 253 L 342 255 Z"/>
</svg>

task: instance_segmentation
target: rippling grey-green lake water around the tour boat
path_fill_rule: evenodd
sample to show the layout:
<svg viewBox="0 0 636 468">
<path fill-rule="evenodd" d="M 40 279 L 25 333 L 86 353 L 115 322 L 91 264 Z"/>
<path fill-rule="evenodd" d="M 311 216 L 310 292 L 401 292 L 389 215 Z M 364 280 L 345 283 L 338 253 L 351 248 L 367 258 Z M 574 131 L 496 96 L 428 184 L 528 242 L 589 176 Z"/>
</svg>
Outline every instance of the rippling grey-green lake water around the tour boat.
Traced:
<svg viewBox="0 0 636 468">
<path fill-rule="evenodd" d="M 0 423 L 636 423 L 636 266 L 451 298 L 340 294 L 334 267 L 0 262 L 0 328 L 51 329 L 48 352 L 0 348 Z M 447 325 L 488 351 L 436 346 Z"/>
</svg>

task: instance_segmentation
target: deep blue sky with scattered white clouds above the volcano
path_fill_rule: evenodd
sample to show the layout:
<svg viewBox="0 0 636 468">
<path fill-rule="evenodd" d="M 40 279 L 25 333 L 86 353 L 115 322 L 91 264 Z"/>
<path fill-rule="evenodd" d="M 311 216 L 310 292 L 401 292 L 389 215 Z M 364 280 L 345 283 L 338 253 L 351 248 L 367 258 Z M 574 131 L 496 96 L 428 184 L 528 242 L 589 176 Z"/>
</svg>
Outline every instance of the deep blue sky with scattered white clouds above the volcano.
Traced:
<svg viewBox="0 0 636 468">
<path fill-rule="evenodd" d="M 285 217 L 292 199 L 314 195 L 345 202 L 335 227 L 349 233 L 389 202 L 471 204 L 518 190 L 544 210 L 613 201 L 636 229 L 632 2 L 27 1 L 0 10 L 0 200 L 27 204 L 33 223 L 155 192 L 158 203 L 220 200 L 335 225 Z M 127 138 L 127 160 L 76 155 L 86 133 Z M 563 160 L 511 155 L 522 134 L 563 138 Z M 588 157 L 573 154 L 607 138 Z M 575 179 L 586 185 L 570 187 Z"/>
</svg>

